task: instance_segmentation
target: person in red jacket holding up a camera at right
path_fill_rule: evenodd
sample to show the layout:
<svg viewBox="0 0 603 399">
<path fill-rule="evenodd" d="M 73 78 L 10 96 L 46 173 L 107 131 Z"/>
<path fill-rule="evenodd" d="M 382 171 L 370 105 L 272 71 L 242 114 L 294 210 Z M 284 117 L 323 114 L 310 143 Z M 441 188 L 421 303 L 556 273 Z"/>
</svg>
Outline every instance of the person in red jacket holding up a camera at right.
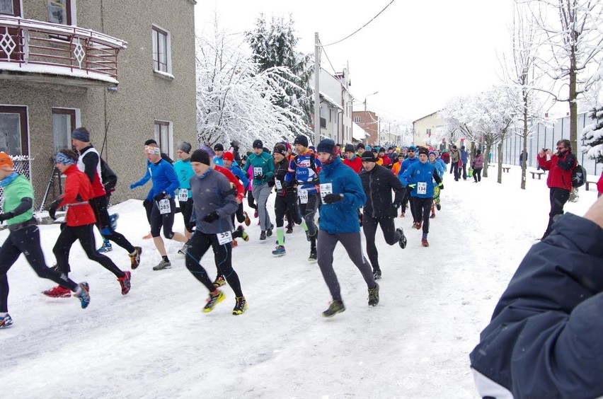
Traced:
<svg viewBox="0 0 603 399">
<path fill-rule="evenodd" d="M 546 226 L 546 231 L 544 231 L 541 240 L 549 236 L 553 230 L 553 218 L 558 214 L 563 214 L 563 206 L 570 199 L 570 192 L 572 191 L 572 172 L 578 164 L 575 155 L 572 154 L 572 146 L 569 140 L 561 139 L 557 141 L 557 152 L 547 161 L 546 155 L 550 151 L 541 149 L 536 158 L 542 169 L 549 170 L 546 185 L 549 186 L 549 199 L 551 200 L 549 225 Z"/>
</svg>

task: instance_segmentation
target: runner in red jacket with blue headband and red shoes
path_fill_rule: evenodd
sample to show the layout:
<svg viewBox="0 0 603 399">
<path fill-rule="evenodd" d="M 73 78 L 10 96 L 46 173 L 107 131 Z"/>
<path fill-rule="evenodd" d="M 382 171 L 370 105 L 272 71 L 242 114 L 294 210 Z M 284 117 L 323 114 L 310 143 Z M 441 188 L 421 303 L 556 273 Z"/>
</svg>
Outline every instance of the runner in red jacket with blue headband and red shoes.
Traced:
<svg viewBox="0 0 603 399">
<path fill-rule="evenodd" d="M 57 258 L 57 270 L 67 277 L 71 271 L 69 267 L 69 250 L 76 240 L 79 240 L 81 247 L 84 248 L 88 259 L 100 263 L 109 270 L 117 281 L 120 282 L 122 295 L 130 291 L 130 272 L 122 272 L 119 267 L 113 263 L 113 260 L 96 251 L 94 242 L 93 226 L 96 223 L 96 216 L 88 201 L 93 198 L 93 189 L 88 180 L 88 176 L 81 172 L 77 167 L 77 154 L 69 149 L 61 150 L 57 156 L 57 168 L 62 174 L 67 176 L 65 179 L 65 193 L 62 197 L 50 204 L 48 214 L 55 219 L 54 214 L 59 207 L 67 207 L 65 221 L 62 224 L 62 230 L 54 244 L 52 252 Z M 68 298 L 71 291 L 62 286 L 57 286 L 44 291 L 43 294 L 53 298 Z"/>
</svg>

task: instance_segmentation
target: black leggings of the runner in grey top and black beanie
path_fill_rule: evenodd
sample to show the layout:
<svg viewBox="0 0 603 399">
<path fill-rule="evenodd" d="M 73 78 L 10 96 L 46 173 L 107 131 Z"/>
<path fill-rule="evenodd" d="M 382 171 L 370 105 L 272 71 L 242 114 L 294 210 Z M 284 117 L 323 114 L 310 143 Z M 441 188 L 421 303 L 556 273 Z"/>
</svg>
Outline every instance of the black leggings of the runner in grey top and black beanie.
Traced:
<svg viewBox="0 0 603 399">
<path fill-rule="evenodd" d="M 215 290 L 212 280 L 209 279 L 205 268 L 201 265 L 202 256 L 205 255 L 209 247 L 212 247 L 218 274 L 224 276 L 236 296 L 243 296 L 239 275 L 232 268 L 231 243 L 220 244 L 215 234 L 205 234 L 195 230 L 193 237 L 190 238 L 189 245 L 186 251 L 186 268 L 193 273 L 195 279 L 205 285 L 209 292 Z"/>
</svg>

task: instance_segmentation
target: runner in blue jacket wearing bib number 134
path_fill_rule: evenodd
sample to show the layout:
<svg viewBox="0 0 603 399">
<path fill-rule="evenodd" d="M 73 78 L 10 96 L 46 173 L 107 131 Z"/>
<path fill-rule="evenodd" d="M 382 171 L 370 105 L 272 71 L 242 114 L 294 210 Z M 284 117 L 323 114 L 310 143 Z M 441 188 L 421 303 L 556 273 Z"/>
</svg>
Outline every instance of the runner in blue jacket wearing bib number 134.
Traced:
<svg viewBox="0 0 603 399">
<path fill-rule="evenodd" d="M 440 187 L 440 190 L 444 188 L 442 185 L 442 179 L 437 174 L 437 170 L 434 164 L 429 163 L 427 156 L 429 150 L 425 147 L 419 149 L 419 162 L 415 162 L 408 167 L 402 174 L 402 185 L 410 187 L 410 197 L 412 200 L 410 204 L 415 207 L 413 212 L 413 227 L 420 230 L 423 227 L 423 237 L 421 238 L 421 245 L 424 247 L 429 246 L 427 242 L 427 234 L 429 233 L 429 213 L 431 210 L 431 204 L 433 202 L 434 192 L 434 180 Z"/>
</svg>

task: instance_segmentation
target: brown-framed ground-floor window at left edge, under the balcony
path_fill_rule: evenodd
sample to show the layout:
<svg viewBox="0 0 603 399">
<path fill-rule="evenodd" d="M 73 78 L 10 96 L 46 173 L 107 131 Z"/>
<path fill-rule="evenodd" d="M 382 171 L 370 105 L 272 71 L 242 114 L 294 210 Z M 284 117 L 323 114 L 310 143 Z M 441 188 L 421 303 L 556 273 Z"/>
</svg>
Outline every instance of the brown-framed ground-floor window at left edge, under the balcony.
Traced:
<svg viewBox="0 0 603 399">
<path fill-rule="evenodd" d="M 26 107 L 0 105 L 0 151 L 29 155 Z"/>
</svg>

